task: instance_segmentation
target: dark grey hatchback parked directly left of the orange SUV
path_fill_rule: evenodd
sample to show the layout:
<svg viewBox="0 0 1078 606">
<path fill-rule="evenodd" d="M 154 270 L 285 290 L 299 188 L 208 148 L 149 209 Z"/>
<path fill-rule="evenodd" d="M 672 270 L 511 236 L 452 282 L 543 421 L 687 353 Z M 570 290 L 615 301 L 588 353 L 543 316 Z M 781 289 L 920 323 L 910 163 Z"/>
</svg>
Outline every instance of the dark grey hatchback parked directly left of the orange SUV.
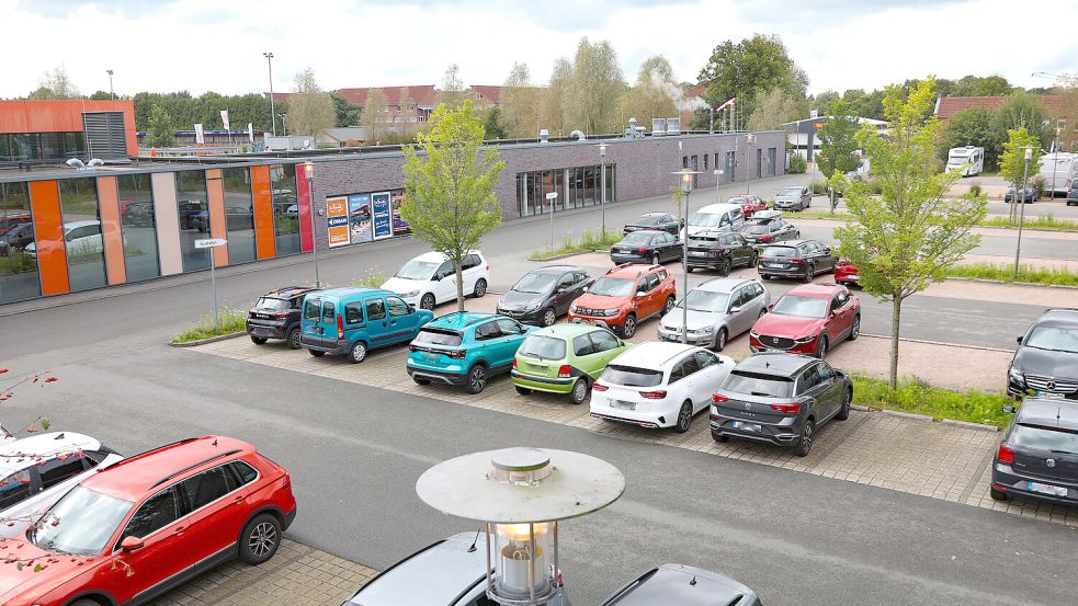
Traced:
<svg viewBox="0 0 1078 606">
<path fill-rule="evenodd" d="M 519 322 L 548 327 L 595 281 L 572 265 L 532 270 L 498 299 L 498 313 Z"/>
</svg>

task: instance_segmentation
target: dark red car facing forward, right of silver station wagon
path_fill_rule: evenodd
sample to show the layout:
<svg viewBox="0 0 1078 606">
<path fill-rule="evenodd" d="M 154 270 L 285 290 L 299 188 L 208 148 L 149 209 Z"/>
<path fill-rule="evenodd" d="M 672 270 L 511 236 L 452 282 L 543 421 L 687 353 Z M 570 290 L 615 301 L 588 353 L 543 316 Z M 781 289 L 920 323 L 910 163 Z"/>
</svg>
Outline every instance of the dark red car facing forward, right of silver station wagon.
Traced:
<svg viewBox="0 0 1078 606">
<path fill-rule="evenodd" d="M 822 358 L 861 334 L 861 302 L 846 286 L 806 284 L 786 293 L 749 331 L 749 348 Z"/>
</svg>

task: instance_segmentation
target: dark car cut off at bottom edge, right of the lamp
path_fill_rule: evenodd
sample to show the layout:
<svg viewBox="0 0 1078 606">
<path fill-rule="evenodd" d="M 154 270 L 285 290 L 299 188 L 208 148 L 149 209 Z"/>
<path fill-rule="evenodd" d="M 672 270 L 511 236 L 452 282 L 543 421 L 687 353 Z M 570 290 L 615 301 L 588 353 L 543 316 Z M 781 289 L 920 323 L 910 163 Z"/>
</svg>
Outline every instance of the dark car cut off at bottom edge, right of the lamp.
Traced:
<svg viewBox="0 0 1078 606">
<path fill-rule="evenodd" d="M 756 592 L 717 572 L 662 564 L 614 592 L 600 606 L 761 606 Z"/>
</svg>

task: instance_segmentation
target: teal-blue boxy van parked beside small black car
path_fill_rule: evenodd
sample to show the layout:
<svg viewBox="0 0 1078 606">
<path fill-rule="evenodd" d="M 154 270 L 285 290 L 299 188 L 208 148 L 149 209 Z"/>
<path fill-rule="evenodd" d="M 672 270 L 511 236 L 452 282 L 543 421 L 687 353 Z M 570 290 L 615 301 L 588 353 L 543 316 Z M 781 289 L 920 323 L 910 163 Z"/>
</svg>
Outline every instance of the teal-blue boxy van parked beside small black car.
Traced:
<svg viewBox="0 0 1078 606">
<path fill-rule="evenodd" d="M 299 344 L 315 357 L 344 354 L 359 364 L 370 350 L 411 341 L 433 318 L 382 288 L 318 290 L 304 297 Z"/>
</svg>

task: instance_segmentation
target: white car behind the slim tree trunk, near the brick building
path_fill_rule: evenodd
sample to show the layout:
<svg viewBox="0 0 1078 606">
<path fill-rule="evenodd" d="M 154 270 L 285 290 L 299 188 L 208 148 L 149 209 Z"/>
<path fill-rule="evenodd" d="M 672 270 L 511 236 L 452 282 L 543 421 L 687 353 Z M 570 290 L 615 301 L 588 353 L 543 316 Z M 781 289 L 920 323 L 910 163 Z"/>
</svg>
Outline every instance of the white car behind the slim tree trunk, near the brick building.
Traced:
<svg viewBox="0 0 1078 606">
<path fill-rule="evenodd" d="M 486 295 L 490 284 L 490 265 L 483 253 L 468 251 L 461 268 L 464 295 Z M 409 305 L 434 309 L 435 305 L 456 300 L 456 270 L 444 254 L 424 252 L 405 263 L 382 287 L 393 290 Z"/>
</svg>

